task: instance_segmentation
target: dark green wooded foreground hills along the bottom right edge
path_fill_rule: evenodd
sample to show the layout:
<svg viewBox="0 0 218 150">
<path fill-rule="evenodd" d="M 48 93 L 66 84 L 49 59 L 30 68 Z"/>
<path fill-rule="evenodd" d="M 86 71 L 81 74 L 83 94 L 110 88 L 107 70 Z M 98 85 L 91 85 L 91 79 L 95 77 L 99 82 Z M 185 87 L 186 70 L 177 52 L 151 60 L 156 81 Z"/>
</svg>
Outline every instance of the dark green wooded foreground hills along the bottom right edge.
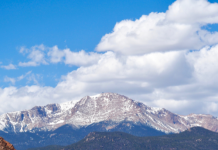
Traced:
<svg viewBox="0 0 218 150">
<path fill-rule="evenodd" d="M 193 127 L 179 134 L 136 137 L 122 132 L 92 132 L 75 144 L 28 150 L 217 150 L 218 133 Z"/>
</svg>

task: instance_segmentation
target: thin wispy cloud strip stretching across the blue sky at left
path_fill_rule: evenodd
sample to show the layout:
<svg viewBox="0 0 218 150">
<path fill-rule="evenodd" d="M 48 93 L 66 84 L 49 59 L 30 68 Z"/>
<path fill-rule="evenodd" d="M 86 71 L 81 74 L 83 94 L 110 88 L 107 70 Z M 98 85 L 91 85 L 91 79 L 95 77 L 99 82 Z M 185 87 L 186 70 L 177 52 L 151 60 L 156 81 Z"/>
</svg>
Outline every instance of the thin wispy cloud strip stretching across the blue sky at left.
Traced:
<svg viewBox="0 0 218 150">
<path fill-rule="evenodd" d="M 49 63 L 64 63 L 72 66 L 87 66 L 96 63 L 101 54 L 90 52 L 86 53 L 84 50 L 79 52 L 72 52 L 69 48 L 59 49 L 58 46 L 46 47 L 42 45 L 36 45 L 27 49 L 25 47 L 20 48 L 20 53 L 28 54 L 28 62 L 19 62 L 19 66 L 39 66 L 41 64 L 47 65 Z"/>
</svg>

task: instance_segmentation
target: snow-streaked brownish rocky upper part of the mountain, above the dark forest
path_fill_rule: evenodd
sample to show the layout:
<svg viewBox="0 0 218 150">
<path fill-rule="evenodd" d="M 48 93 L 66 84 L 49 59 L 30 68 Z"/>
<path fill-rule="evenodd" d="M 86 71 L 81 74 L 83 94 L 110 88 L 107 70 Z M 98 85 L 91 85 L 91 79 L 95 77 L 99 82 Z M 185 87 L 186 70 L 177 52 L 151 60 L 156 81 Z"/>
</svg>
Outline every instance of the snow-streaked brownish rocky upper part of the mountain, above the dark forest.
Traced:
<svg viewBox="0 0 218 150">
<path fill-rule="evenodd" d="M 218 119 L 211 115 L 177 115 L 164 108 L 148 107 L 115 93 L 102 93 L 86 96 L 76 102 L 36 106 L 27 111 L 6 113 L 0 116 L 0 130 L 49 131 L 65 124 L 81 128 L 102 121 L 115 122 L 113 125 L 105 126 L 107 130 L 116 127 L 116 123 L 129 121 L 165 133 L 178 133 L 194 126 L 218 131 Z"/>
</svg>

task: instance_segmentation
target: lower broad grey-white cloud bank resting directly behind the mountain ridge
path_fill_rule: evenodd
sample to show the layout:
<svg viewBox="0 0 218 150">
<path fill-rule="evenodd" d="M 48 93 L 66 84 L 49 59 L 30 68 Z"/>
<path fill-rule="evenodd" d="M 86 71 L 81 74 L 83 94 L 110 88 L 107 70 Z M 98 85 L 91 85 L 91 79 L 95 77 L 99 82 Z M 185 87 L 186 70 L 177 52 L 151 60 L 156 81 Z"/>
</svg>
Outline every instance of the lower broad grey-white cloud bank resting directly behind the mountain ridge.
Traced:
<svg viewBox="0 0 218 150">
<path fill-rule="evenodd" d="M 95 64 L 63 76 L 54 88 L 26 86 L 1 89 L 0 99 L 7 99 L 7 105 L 14 102 L 7 110 L 2 108 L 2 112 L 79 99 L 101 92 L 116 92 L 178 114 L 210 113 L 217 116 L 217 52 L 218 45 L 194 52 L 142 56 L 107 52 Z M 17 105 L 13 108 L 15 100 Z"/>
</svg>

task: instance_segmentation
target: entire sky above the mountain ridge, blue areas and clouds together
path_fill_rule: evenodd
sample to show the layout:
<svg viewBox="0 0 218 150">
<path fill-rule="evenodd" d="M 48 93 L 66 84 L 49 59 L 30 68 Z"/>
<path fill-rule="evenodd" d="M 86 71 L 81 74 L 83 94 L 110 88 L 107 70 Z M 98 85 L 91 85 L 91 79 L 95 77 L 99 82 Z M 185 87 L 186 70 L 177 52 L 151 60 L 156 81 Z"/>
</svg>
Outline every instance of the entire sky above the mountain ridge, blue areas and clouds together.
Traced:
<svg viewBox="0 0 218 150">
<path fill-rule="evenodd" d="M 218 116 L 217 2 L 0 2 L 0 113 L 116 92 Z"/>
</svg>

